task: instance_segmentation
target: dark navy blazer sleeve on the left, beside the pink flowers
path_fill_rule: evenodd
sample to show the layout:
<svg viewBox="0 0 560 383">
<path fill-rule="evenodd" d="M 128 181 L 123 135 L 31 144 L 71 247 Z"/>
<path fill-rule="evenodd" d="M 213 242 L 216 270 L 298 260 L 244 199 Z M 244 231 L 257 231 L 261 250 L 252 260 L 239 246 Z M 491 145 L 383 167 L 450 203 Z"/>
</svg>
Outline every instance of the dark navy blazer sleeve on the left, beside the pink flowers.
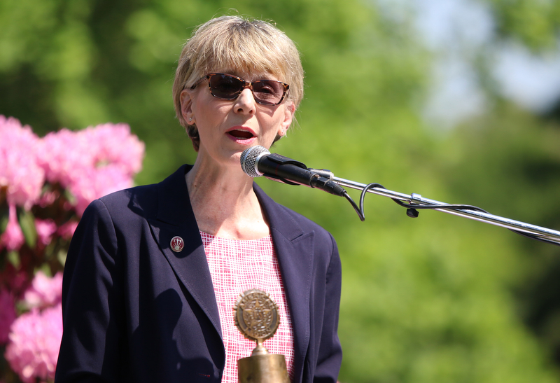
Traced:
<svg viewBox="0 0 560 383">
<path fill-rule="evenodd" d="M 122 302 L 118 242 L 109 211 L 96 200 L 69 247 L 62 284 L 64 331 L 55 382 L 119 382 Z"/>
</svg>

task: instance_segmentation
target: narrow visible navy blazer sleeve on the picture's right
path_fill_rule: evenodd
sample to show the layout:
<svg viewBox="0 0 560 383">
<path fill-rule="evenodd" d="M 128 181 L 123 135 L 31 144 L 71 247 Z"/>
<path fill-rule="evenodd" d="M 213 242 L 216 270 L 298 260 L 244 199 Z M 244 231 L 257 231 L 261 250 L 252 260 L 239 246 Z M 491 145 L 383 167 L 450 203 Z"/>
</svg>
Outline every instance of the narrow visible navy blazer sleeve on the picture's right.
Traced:
<svg viewBox="0 0 560 383">
<path fill-rule="evenodd" d="M 332 242 L 332 256 L 328 265 L 325 287 L 325 309 L 321 329 L 321 343 L 317 354 L 317 364 L 313 381 L 316 383 L 337 382 L 342 363 L 342 347 L 338 338 L 338 317 L 340 291 L 342 285 L 342 266 L 335 239 Z"/>
</svg>

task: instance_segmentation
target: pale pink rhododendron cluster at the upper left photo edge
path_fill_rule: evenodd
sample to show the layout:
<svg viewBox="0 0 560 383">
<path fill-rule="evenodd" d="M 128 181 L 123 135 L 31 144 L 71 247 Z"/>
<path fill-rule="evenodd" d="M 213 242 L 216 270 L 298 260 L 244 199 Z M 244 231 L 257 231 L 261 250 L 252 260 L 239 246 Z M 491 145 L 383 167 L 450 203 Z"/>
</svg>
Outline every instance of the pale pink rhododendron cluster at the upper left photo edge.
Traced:
<svg viewBox="0 0 560 383">
<path fill-rule="evenodd" d="M 0 186 L 8 187 L 8 204 L 29 209 L 41 195 L 45 172 L 36 160 L 39 147 L 31 127 L 0 115 Z"/>
</svg>

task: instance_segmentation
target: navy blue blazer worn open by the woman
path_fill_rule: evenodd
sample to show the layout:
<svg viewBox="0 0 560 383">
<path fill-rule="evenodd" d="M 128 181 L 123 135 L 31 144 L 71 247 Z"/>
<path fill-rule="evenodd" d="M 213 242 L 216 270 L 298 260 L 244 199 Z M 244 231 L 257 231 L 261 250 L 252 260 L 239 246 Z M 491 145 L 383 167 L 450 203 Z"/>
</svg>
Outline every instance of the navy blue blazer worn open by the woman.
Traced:
<svg viewBox="0 0 560 383">
<path fill-rule="evenodd" d="M 183 165 L 161 183 L 113 193 L 86 209 L 64 269 L 55 382 L 220 382 L 225 351 L 188 199 L 189 169 Z M 254 190 L 290 308 L 294 381 L 335 382 L 342 361 L 335 240 Z M 176 235 L 185 242 L 179 253 L 170 248 Z"/>
</svg>

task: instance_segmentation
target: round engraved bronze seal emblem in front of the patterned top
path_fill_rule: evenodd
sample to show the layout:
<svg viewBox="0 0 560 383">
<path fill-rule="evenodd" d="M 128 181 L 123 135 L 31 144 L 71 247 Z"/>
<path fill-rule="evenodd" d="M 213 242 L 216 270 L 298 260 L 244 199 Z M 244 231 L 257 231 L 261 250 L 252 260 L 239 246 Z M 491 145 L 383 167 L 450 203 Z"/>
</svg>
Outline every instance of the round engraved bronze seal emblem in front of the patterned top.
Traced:
<svg viewBox="0 0 560 383">
<path fill-rule="evenodd" d="M 274 336 L 280 324 L 278 306 L 268 293 L 256 288 L 241 293 L 233 309 L 239 331 L 258 344 Z"/>
</svg>

